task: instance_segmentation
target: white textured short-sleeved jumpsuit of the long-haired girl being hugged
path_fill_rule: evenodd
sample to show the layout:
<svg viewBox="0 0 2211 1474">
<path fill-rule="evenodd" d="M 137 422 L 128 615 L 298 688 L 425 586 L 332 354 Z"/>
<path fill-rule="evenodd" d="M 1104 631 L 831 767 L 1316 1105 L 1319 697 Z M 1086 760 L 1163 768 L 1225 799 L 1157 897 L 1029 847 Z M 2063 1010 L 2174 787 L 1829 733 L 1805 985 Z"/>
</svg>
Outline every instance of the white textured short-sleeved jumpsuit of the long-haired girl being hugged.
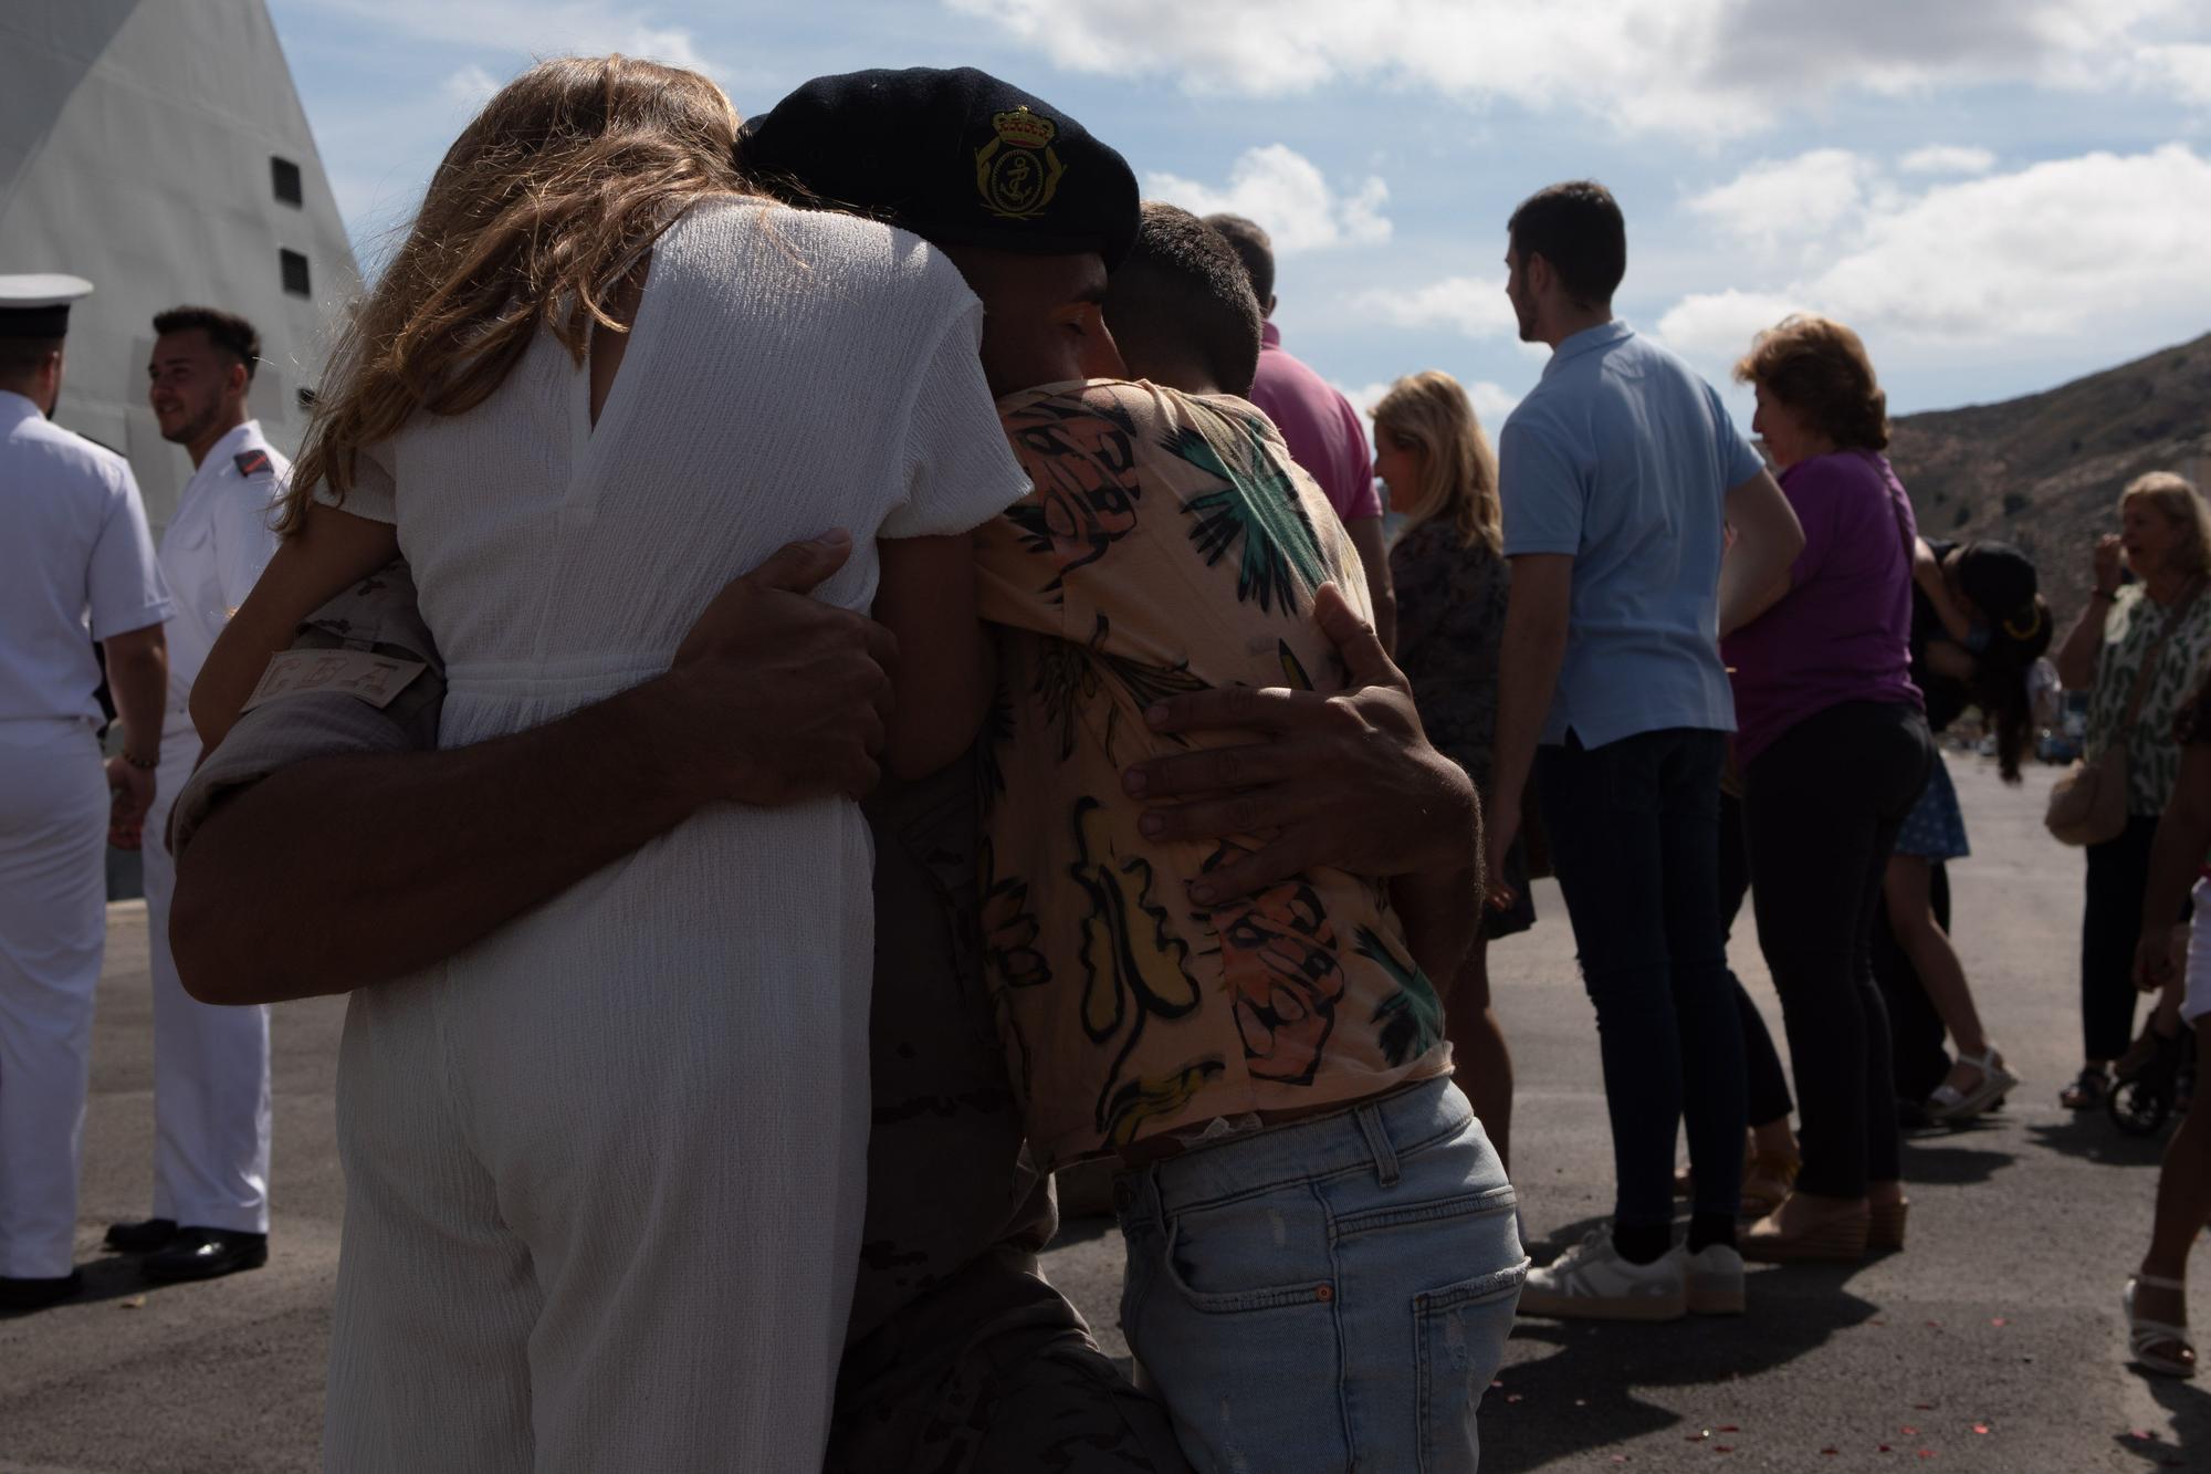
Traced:
<svg viewBox="0 0 2211 1474">
<path fill-rule="evenodd" d="M 478 409 L 418 414 L 347 511 L 398 525 L 449 660 L 440 741 L 663 671 L 776 547 L 1021 496 L 982 305 L 884 226 L 716 201 L 654 246 L 597 427 L 539 336 Z M 334 837 L 332 843 L 343 843 Z M 869 1129 L 867 826 L 716 806 L 429 974 L 354 994 L 334 1470 L 809 1470 Z"/>
</svg>

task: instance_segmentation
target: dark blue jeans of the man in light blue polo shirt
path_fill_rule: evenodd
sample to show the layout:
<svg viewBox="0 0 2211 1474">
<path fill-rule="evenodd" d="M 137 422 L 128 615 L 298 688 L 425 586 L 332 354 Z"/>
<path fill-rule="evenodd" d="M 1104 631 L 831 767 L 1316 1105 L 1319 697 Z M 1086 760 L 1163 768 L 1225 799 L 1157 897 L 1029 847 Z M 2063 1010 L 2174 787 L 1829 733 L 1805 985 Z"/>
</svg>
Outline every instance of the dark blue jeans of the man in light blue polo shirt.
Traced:
<svg viewBox="0 0 2211 1474">
<path fill-rule="evenodd" d="M 1537 788 L 1612 1115 L 1618 1224 L 1674 1222 L 1687 1122 L 1694 1211 L 1742 1202 L 1742 1018 L 1720 932 L 1727 735 L 1665 728 L 1537 752 Z"/>
</svg>

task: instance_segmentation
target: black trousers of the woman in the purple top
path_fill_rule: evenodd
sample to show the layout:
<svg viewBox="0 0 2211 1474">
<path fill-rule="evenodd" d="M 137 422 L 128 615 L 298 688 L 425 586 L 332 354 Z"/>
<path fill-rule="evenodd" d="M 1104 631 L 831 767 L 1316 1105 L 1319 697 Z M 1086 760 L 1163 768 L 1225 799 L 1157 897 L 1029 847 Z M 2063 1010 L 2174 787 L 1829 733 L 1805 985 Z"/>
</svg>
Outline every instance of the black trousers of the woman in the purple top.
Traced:
<svg viewBox="0 0 2211 1474">
<path fill-rule="evenodd" d="M 1901 1175 L 1873 927 L 1932 761 L 1917 706 L 1844 702 L 1782 733 L 1742 775 L 1751 905 L 1795 1062 L 1806 1193 L 1864 1197 Z"/>
</svg>

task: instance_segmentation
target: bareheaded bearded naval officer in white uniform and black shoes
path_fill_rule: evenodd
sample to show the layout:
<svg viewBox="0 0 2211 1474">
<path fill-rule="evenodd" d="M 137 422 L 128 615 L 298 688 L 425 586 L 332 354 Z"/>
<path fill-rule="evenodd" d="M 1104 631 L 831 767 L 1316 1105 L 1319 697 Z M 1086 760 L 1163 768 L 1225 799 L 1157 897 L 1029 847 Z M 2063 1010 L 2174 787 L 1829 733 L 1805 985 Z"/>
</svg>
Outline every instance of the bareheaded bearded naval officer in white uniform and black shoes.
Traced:
<svg viewBox="0 0 2211 1474">
<path fill-rule="evenodd" d="M 199 761 L 186 702 L 230 613 L 276 551 L 272 500 L 292 463 L 245 407 L 261 334 L 214 308 L 153 319 L 146 398 L 161 438 L 192 456 L 192 480 L 161 533 L 161 575 L 177 595 L 168 626 L 168 722 L 146 814 L 146 925 L 153 967 L 153 1217 L 115 1224 L 108 1246 L 148 1255 L 148 1279 L 212 1279 L 268 1262 L 270 1011 L 195 1003 L 177 980 L 168 912 L 177 861 L 168 812 Z M 137 837 L 117 834 L 117 843 Z"/>
</svg>

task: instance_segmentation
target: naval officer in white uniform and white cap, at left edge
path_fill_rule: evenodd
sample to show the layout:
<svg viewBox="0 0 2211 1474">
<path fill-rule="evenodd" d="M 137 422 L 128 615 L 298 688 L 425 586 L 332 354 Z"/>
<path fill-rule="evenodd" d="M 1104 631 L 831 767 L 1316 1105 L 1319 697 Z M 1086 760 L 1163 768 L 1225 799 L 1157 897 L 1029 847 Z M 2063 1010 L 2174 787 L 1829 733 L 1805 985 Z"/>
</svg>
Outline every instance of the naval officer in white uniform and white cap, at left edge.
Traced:
<svg viewBox="0 0 2211 1474">
<path fill-rule="evenodd" d="M 106 837 L 144 819 L 161 768 L 170 600 L 146 507 L 130 463 L 46 418 L 69 303 L 91 290 L 0 277 L 0 1310 L 82 1284 L 71 1250 Z M 93 640 L 124 724 L 106 775 Z"/>
</svg>

